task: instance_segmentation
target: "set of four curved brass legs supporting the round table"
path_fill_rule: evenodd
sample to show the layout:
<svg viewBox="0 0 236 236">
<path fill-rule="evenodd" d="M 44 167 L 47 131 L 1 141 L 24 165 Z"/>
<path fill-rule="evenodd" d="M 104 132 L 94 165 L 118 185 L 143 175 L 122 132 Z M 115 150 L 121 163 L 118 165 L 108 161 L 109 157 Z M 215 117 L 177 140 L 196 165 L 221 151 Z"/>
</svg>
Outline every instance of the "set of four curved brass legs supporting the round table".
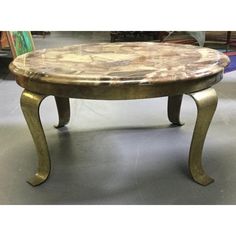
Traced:
<svg viewBox="0 0 236 236">
<path fill-rule="evenodd" d="M 207 130 L 216 109 L 217 95 L 212 88 L 188 95 L 194 99 L 198 109 L 189 152 L 189 172 L 195 182 L 205 186 L 214 181 L 205 173 L 202 167 L 202 149 Z M 51 169 L 47 141 L 39 115 L 40 104 L 46 96 L 48 95 L 40 95 L 27 90 L 24 90 L 21 96 L 21 108 L 33 137 L 38 155 L 36 174 L 28 180 L 28 183 L 33 186 L 45 182 Z M 59 116 L 59 123 L 55 127 L 60 128 L 66 125 L 70 119 L 69 98 L 55 97 L 55 100 Z M 182 95 L 169 96 L 168 98 L 168 118 L 174 125 L 179 126 L 183 125 L 179 119 L 181 102 Z"/>
</svg>

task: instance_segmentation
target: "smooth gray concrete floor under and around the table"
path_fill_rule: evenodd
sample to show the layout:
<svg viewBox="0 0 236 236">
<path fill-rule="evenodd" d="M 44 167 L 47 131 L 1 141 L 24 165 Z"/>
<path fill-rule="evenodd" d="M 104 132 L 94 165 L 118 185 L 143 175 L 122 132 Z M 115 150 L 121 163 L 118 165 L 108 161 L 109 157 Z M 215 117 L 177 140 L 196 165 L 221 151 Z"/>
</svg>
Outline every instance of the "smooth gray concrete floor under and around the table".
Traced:
<svg viewBox="0 0 236 236">
<path fill-rule="evenodd" d="M 109 41 L 109 33 L 56 33 L 36 48 Z M 196 118 L 184 96 L 182 127 L 170 127 L 167 98 L 130 101 L 71 99 L 71 121 L 56 130 L 53 97 L 41 106 L 52 160 L 48 181 L 31 187 L 37 157 L 21 113 L 22 88 L 0 74 L 0 204 L 236 204 L 236 73 L 215 86 L 217 111 L 204 146 L 215 182 L 202 187 L 187 171 Z"/>
</svg>

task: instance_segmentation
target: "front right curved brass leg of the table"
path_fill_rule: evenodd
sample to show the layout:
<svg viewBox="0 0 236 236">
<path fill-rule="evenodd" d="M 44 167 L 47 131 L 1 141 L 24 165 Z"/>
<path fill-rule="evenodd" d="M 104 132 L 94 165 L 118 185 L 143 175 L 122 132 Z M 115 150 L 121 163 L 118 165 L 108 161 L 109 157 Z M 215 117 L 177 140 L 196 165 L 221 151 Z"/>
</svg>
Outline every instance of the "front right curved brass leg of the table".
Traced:
<svg viewBox="0 0 236 236">
<path fill-rule="evenodd" d="M 189 95 L 194 99 L 198 109 L 189 152 L 189 171 L 197 183 L 206 186 L 212 183 L 214 179 L 209 177 L 202 167 L 202 148 L 207 130 L 215 113 L 218 98 L 212 88 Z"/>
</svg>

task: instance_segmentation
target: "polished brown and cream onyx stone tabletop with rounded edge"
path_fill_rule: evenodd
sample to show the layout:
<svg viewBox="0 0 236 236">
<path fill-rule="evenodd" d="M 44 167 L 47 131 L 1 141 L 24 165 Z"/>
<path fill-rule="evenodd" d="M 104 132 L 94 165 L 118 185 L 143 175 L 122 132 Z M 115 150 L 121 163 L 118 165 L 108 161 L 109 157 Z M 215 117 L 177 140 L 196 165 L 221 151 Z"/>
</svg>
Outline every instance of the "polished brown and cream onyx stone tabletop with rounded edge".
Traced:
<svg viewBox="0 0 236 236">
<path fill-rule="evenodd" d="M 160 84 L 222 73 L 229 58 L 192 45 L 135 42 L 80 44 L 18 56 L 10 70 L 30 81 L 71 85 Z"/>
</svg>

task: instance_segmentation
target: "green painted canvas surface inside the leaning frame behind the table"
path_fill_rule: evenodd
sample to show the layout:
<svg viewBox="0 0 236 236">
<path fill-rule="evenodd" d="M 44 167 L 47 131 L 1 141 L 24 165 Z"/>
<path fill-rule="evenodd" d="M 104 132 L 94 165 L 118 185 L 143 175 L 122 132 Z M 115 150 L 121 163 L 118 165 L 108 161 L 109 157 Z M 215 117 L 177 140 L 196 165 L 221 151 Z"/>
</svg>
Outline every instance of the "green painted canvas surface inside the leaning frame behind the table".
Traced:
<svg viewBox="0 0 236 236">
<path fill-rule="evenodd" d="M 33 51 L 34 46 L 29 31 L 13 31 L 12 37 L 14 40 L 16 56 Z"/>
</svg>

